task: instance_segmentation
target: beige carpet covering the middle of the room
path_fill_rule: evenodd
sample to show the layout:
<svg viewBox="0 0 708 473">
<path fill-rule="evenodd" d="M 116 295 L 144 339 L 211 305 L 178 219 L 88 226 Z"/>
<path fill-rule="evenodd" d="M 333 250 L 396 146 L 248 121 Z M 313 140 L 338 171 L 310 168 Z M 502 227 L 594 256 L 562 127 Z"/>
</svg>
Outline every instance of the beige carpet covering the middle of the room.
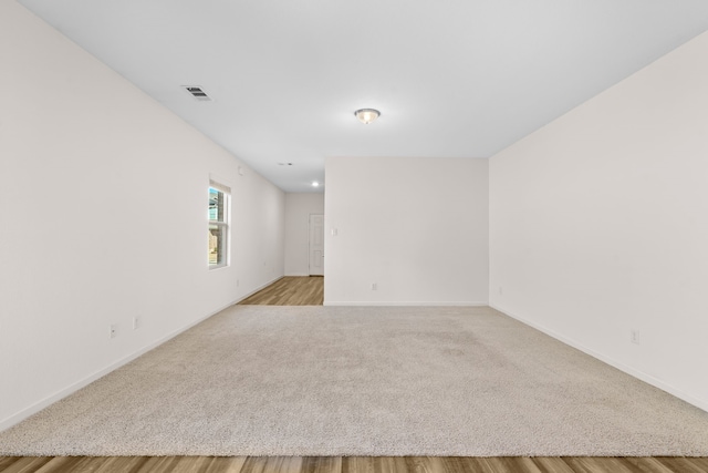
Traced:
<svg viewBox="0 0 708 473">
<path fill-rule="evenodd" d="M 3 455 L 708 455 L 708 413 L 490 308 L 236 306 Z"/>
</svg>

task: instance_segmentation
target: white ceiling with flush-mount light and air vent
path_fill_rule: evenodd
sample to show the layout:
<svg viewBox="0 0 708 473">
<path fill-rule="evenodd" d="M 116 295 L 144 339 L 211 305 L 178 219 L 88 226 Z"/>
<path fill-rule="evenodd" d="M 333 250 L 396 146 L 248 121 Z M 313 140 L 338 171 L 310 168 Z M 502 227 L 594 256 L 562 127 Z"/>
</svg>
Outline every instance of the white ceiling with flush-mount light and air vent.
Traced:
<svg viewBox="0 0 708 473">
<path fill-rule="evenodd" d="M 708 30 L 705 0 L 19 2 L 285 192 L 326 156 L 489 157 Z"/>
</svg>

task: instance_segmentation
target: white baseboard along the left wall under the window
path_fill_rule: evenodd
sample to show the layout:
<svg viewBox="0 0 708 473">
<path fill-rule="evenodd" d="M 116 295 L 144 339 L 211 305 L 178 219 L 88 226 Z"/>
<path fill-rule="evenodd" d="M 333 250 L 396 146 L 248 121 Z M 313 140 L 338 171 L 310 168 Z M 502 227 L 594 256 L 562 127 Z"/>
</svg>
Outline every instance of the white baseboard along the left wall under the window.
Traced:
<svg viewBox="0 0 708 473">
<path fill-rule="evenodd" d="M 278 278 L 280 279 L 280 278 Z M 256 291 L 258 291 L 260 289 L 257 289 Z M 256 292 L 253 291 L 253 292 Z M 248 296 L 246 296 L 248 297 Z M 103 378 L 104 376 L 108 374 L 110 372 L 117 370 L 118 368 L 129 363 L 131 361 L 135 360 L 136 358 L 147 353 L 148 351 L 153 350 L 154 348 L 159 347 L 160 345 L 165 343 L 166 341 L 177 337 L 178 335 L 189 330 L 190 328 L 192 328 L 194 326 L 201 323 L 202 321 L 207 320 L 209 317 L 215 316 L 217 313 L 219 313 L 220 311 L 222 311 L 223 309 L 233 306 L 235 304 L 238 304 L 241 299 L 236 300 L 233 302 L 230 302 L 190 323 L 188 323 L 187 326 L 177 329 L 168 335 L 166 335 L 165 337 L 158 339 L 157 341 L 154 341 L 149 345 L 147 345 L 146 347 L 143 347 L 142 349 L 139 349 L 138 351 L 128 354 L 125 358 L 122 358 L 121 360 L 108 364 L 107 367 L 94 372 L 93 374 L 77 381 L 74 382 L 72 384 L 70 384 L 69 387 L 55 392 L 54 394 L 42 399 L 41 401 L 30 405 L 29 408 L 25 408 L 23 410 L 21 410 L 20 412 L 10 415 L 7 419 L 3 419 L 2 421 L 0 421 L 0 432 L 11 428 L 12 425 L 15 425 L 20 422 L 22 422 L 23 420 L 28 419 L 31 415 L 34 415 L 35 413 L 38 413 L 39 411 L 41 411 L 42 409 L 45 409 L 48 407 L 50 407 L 51 404 L 53 404 L 54 402 L 61 401 L 62 399 L 66 398 L 67 395 L 73 394 L 74 392 L 79 391 L 82 388 L 85 388 L 86 385 L 91 384 L 92 382 L 96 381 L 100 378 Z"/>
</svg>

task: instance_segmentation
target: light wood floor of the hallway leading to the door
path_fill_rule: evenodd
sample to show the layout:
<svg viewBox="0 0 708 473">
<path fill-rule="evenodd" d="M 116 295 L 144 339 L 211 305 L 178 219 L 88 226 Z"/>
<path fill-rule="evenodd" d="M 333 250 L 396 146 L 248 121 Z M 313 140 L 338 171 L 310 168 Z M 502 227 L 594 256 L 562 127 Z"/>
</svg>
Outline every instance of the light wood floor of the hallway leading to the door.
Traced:
<svg viewBox="0 0 708 473">
<path fill-rule="evenodd" d="M 322 306 L 324 278 L 285 276 L 239 302 L 242 306 Z"/>
</svg>

